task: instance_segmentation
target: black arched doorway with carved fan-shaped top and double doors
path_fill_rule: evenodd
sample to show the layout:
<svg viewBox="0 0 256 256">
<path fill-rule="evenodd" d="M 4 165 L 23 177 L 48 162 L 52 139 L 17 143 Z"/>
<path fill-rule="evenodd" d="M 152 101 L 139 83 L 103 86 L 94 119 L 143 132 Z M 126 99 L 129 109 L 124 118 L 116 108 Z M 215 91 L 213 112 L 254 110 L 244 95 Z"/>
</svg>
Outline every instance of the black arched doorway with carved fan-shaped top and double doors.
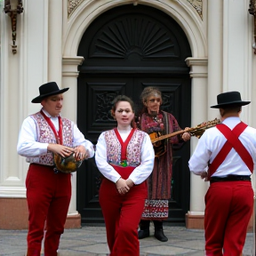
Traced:
<svg viewBox="0 0 256 256">
<path fill-rule="evenodd" d="M 77 124 L 96 144 L 100 132 L 116 126 L 110 116 L 117 94 L 140 102 L 145 86 L 163 92 L 165 111 L 181 127 L 190 126 L 191 86 L 185 59 L 188 39 L 164 12 L 146 5 L 123 5 L 103 13 L 84 32 L 78 47 L 84 57 L 77 87 Z M 169 221 L 184 221 L 189 208 L 189 143 L 175 151 Z M 171 184 L 170 184 L 171 186 Z M 77 210 L 82 222 L 103 221 L 98 202 L 100 173 L 93 160 L 77 172 Z"/>
</svg>

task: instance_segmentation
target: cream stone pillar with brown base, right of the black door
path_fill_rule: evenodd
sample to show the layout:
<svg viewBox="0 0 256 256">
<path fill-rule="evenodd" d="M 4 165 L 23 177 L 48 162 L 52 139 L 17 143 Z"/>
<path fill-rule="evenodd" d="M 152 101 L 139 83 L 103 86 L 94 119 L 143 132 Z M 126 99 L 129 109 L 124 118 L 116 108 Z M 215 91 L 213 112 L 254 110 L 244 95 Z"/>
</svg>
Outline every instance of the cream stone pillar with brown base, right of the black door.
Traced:
<svg viewBox="0 0 256 256">
<path fill-rule="evenodd" d="M 190 67 L 192 78 L 191 126 L 196 126 L 207 121 L 207 59 L 188 58 L 186 62 Z M 197 140 L 191 138 L 191 155 L 196 148 Z M 204 228 L 204 195 L 208 184 L 193 173 L 191 173 L 190 184 L 190 211 L 186 214 L 186 226 L 187 228 Z"/>
</svg>

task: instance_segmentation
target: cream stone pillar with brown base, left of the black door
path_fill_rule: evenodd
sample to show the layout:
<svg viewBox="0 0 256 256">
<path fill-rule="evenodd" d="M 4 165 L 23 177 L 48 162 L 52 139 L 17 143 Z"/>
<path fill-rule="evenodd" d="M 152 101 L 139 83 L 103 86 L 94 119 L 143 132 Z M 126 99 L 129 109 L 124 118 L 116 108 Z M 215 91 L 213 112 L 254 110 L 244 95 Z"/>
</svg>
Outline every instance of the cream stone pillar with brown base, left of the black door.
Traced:
<svg viewBox="0 0 256 256">
<path fill-rule="evenodd" d="M 69 87 L 64 94 L 63 116 L 76 123 L 77 112 L 77 66 L 81 65 L 84 57 L 63 57 L 62 58 L 62 87 Z M 72 197 L 68 209 L 66 228 L 80 228 L 81 215 L 76 211 L 76 172 L 72 174 Z"/>
</svg>

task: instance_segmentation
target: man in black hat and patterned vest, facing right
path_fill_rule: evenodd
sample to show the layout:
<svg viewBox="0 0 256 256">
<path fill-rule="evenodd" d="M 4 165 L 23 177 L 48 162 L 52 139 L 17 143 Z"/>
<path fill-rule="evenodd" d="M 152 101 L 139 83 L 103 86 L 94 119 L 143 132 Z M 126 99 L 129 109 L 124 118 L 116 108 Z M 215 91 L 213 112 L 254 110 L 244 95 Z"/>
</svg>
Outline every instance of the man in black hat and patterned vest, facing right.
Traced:
<svg viewBox="0 0 256 256">
<path fill-rule="evenodd" d="M 54 157 L 74 155 L 75 161 L 94 156 L 92 142 L 84 139 L 72 121 L 60 117 L 63 92 L 55 82 L 39 87 L 33 103 L 43 108 L 28 116 L 20 129 L 17 151 L 29 164 L 26 179 L 28 201 L 27 256 L 40 256 L 44 237 L 44 256 L 56 256 L 71 198 L 71 175 L 54 166 Z M 46 222 L 45 222 L 46 221 Z M 46 233 L 44 236 L 44 223 Z"/>
</svg>

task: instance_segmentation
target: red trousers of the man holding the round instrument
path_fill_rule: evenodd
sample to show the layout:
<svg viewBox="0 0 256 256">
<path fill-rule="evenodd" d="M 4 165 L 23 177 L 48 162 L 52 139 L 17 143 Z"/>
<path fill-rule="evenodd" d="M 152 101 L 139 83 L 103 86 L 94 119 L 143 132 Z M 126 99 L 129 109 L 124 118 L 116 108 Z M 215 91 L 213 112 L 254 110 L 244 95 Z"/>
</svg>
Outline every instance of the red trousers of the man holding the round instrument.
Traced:
<svg viewBox="0 0 256 256">
<path fill-rule="evenodd" d="M 71 198 L 70 174 L 54 173 L 52 166 L 30 164 L 26 179 L 28 201 L 28 256 L 56 256 Z"/>
</svg>

